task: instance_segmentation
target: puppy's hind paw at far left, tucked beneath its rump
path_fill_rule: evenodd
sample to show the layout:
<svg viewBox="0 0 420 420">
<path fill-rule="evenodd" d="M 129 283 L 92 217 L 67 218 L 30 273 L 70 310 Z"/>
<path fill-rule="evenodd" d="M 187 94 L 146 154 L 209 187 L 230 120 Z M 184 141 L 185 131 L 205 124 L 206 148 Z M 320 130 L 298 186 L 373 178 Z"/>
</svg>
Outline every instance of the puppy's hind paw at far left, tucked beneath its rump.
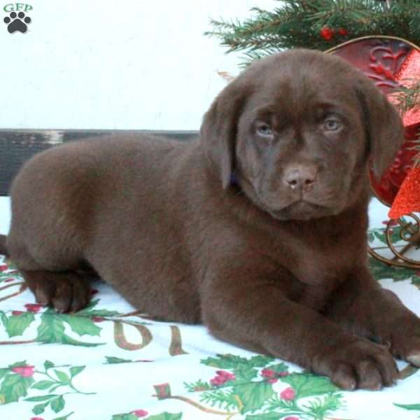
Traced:
<svg viewBox="0 0 420 420">
<path fill-rule="evenodd" d="M 36 302 L 52 306 L 59 312 L 76 312 L 90 300 L 89 279 L 78 272 L 21 270 Z"/>
</svg>

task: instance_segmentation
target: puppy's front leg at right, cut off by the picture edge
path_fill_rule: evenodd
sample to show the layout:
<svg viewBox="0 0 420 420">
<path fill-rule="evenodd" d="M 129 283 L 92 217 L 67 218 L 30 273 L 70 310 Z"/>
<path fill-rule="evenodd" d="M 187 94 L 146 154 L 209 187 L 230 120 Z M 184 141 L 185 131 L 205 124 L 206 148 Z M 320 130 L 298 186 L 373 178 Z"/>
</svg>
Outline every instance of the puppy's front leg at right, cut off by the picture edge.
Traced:
<svg viewBox="0 0 420 420">
<path fill-rule="evenodd" d="M 326 315 L 351 332 L 389 347 L 395 357 L 420 366 L 420 318 L 395 293 L 381 288 L 365 267 L 336 291 Z"/>
</svg>

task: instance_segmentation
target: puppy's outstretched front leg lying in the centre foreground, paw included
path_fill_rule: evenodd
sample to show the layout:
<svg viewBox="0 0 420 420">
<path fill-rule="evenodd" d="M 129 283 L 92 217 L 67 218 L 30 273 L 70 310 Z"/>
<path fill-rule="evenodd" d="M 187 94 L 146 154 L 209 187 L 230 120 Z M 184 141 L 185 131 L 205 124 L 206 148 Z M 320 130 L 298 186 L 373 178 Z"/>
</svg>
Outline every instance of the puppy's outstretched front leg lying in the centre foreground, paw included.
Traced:
<svg viewBox="0 0 420 420">
<path fill-rule="evenodd" d="M 202 287 L 202 318 L 216 337 L 297 363 L 344 389 L 393 384 L 398 370 L 386 346 L 351 335 L 289 300 L 282 290 L 288 272 L 276 272 L 269 280 L 269 272 L 255 274 L 241 264 L 223 272 L 209 269 Z"/>
</svg>

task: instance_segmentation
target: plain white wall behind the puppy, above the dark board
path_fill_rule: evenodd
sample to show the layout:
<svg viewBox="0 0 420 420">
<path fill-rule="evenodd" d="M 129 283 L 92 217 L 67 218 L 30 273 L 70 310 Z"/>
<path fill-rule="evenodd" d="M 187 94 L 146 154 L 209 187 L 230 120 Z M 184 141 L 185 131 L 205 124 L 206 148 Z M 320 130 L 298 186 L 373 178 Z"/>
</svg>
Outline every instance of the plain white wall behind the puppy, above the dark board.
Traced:
<svg viewBox="0 0 420 420">
<path fill-rule="evenodd" d="M 237 74 L 203 32 L 274 0 L 30 0 L 26 34 L 0 3 L 0 128 L 197 130 Z"/>
</svg>

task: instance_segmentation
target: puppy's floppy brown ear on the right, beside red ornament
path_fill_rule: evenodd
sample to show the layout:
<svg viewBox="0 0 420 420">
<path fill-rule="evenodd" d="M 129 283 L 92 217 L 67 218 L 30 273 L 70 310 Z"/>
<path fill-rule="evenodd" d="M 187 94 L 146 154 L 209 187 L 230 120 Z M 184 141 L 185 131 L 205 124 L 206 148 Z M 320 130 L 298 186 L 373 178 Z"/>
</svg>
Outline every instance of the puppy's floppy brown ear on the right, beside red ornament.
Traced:
<svg viewBox="0 0 420 420">
<path fill-rule="evenodd" d="M 360 80 L 356 92 L 364 114 L 370 165 L 374 176 L 380 179 L 404 141 L 402 119 L 397 109 L 371 80 Z"/>
</svg>

